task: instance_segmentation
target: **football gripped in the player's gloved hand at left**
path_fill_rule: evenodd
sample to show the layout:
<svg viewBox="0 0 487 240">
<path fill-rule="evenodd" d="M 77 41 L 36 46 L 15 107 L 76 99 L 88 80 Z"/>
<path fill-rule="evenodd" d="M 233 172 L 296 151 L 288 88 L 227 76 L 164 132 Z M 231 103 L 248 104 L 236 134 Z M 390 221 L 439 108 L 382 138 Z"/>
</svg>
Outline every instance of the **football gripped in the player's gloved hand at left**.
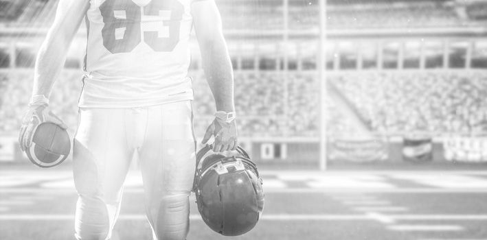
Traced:
<svg viewBox="0 0 487 240">
<path fill-rule="evenodd" d="M 54 167 L 63 163 L 71 152 L 67 130 L 54 123 L 41 123 L 34 132 L 27 157 L 38 167 Z"/>
</svg>

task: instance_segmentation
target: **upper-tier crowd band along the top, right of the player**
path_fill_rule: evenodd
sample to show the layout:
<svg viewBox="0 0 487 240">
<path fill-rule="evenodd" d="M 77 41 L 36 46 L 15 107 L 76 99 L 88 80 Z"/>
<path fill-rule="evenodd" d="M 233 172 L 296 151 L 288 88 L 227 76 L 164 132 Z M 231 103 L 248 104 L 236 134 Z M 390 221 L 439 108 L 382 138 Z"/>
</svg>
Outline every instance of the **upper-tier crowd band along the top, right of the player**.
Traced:
<svg viewBox="0 0 487 240">
<path fill-rule="evenodd" d="M 280 2 L 276 2 L 280 3 Z M 303 1 L 288 8 L 289 29 L 318 29 L 319 6 Z M 220 7 L 225 29 L 283 29 L 282 5 L 235 8 Z M 251 16 L 251 17 L 249 17 Z M 414 3 L 365 3 L 329 5 L 326 12 L 329 29 L 394 27 L 452 27 L 473 24 L 458 16 L 453 5 L 438 1 Z"/>
</svg>

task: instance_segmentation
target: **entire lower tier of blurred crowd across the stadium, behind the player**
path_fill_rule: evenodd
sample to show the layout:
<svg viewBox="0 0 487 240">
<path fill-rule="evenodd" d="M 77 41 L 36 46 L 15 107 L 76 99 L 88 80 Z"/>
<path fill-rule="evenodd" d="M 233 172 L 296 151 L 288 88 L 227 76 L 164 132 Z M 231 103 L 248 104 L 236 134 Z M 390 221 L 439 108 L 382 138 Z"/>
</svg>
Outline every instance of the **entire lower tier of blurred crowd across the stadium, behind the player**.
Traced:
<svg viewBox="0 0 487 240">
<path fill-rule="evenodd" d="M 202 72 L 194 79 L 194 126 L 202 136 L 213 120 L 214 100 Z M 76 130 L 80 71 L 65 70 L 54 86 L 52 110 Z M 330 73 L 337 91 L 373 132 L 469 133 L 486 130 L 484 71 L 362 71 Z M 242 71 L 235 75 L 240 136 L 318 136 L 319 82 L 315 73 Z M 0 132 L 16 132 L 32 91 L 32 70 L 0 73 Z M 331 90 L 330 90 L 331 89 Z M 328 99 L 328 132 L 353 132 Z"/>
</svg>

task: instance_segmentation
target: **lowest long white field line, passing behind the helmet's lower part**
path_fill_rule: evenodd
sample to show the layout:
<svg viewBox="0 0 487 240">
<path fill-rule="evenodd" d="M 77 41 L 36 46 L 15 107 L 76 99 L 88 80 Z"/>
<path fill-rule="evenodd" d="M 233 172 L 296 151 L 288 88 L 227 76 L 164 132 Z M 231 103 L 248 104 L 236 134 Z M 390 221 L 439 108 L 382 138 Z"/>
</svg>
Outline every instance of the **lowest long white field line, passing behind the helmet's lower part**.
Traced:
<svg viewBox="0 0 487 240">
<path fill-rule="evenodd" d="M 269 221 L 363 221 L 363 220 L 377 220 L 381 217 L 385 221 L 396 220 L 423 220 L 423 221 L 487 221 L 487 215 L 374 215 L 367 213 L 367 215 L 317 215 L 317 214 L 264 214 L 260 217 L 261 220 Z M 69 214 L 0 214 L 0 221 L 11 220 L 72 220 L 74 215 Z M 123 214 L 119 219 L 122 220 L 137 220 L 146 219 L 143 214 Z M 190 215 L 191 220 L 201 219 L 198 214 Z"/>
</svg>

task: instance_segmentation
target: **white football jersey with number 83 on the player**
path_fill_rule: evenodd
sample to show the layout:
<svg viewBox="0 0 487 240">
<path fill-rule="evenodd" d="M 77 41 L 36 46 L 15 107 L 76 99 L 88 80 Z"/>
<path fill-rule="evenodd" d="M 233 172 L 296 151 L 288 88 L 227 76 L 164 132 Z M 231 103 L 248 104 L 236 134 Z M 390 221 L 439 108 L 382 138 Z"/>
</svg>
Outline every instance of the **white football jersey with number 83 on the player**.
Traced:
<svg viewBox="0 0 487 240">
<path fill-rule="evenodd" d="M 90 0 L 80 107 L 133 108 L 193 98 L 194 0 Z"/>
</svg>

